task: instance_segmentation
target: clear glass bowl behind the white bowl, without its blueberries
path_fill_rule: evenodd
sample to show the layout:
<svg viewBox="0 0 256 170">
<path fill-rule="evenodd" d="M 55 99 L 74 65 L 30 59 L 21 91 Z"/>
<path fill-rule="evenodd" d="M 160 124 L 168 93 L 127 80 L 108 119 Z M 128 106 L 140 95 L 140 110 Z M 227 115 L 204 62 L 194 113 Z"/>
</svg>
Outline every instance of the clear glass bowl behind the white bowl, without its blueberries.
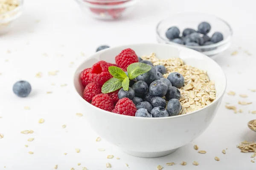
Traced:
<svg viewBox="0 0 256 170">
<path fill-rule="evenodd" d="M 168 30 L 168 28 L 172 26 L 177 26 L 180 29 L 180 34 L 182 35 L 182 32 L 185 28 L 193 28 L 197 30 L 198 24 L 203 21 L 208 22 L 211 25 L 211 30 L 207 34 L 209 37 L 211 37 L 212 34 L 215 33 L 216 31 L 218 31 L 223 34 L 224 39 L 220 42 L 217 42 L 211 45 L 203 45 L 203 46 L 182 45 L 182 46 L 194 49 L 207 56 L 213 56 L 225 51 L 230 46 L 230 40 L 233 34 L 232 28 L 226 21 L 210 14 L 180 13 L 180 14 L 172 15 L 171 17 L 160 21 L 157 24 L 157 28 L 156 28 L 157 41 L 160 43 L 166 43 L 166 44 L 177 44 L 175 42 L 172 42 L 166 37 L 166 31 Z"/>
</svg>

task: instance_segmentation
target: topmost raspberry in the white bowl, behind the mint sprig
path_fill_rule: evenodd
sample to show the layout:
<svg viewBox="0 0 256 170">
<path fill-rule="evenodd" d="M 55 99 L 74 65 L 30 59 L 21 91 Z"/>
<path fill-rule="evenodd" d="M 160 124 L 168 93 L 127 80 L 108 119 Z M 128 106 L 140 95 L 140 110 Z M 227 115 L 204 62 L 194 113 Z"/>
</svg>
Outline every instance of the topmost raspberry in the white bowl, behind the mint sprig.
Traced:
<svg viewBox="0 0 256 170">
<path fill-rule="evenodd" d="M 131 48 L 124 49 L 116 56 L 116 64 L 118 67 L 125 69 L 125 71 L 128 65 L 134 62 L 139 62 L 139 59 Z"/>
</svg>

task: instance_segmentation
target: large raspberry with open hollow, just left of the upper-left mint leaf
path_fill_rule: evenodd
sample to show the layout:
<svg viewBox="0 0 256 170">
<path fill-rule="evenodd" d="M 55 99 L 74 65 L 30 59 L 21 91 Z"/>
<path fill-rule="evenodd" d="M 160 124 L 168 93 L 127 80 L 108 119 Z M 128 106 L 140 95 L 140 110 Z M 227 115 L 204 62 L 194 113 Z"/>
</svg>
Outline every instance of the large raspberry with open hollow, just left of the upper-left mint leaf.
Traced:
<svg viewBox="0 0 256 170">
<path fill-rule="evenodd" d="M 99 85 L 103 85 L 106 81 L 111 79 L 113 76 L 108 72 L 109 66 L 114 66 L 105 61 L 96 62 L 90 69 L 90 78 Z"/>
</svg>

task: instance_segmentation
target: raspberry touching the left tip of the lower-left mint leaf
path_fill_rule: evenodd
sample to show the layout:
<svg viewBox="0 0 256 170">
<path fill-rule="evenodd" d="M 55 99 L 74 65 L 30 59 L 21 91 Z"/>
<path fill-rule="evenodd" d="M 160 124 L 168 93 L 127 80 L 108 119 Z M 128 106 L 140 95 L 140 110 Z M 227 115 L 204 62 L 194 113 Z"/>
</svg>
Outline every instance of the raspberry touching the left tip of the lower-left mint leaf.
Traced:
<svg viewBox="0 0 256 170">
<path fill-rule="evenodd" d="M 96 82 L 90 82 L 84 88 L 84 100 L 90 102 L 96 94 L 101 94 L 101 85 L 98 85 Z"/>
</svg>

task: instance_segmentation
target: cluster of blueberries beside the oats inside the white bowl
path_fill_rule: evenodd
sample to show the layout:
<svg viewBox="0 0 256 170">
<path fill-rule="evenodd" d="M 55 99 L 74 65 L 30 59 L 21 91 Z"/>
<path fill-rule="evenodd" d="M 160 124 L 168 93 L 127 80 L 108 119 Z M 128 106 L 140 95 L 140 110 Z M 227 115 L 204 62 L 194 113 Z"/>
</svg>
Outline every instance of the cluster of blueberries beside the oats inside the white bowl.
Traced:
<svg viewBox="0 0 256 170">
<path fill-rule="evenodd" d="M 184 86 L 184 77 L 179 73 L 171 73 L 167 78 L 164 65 L 156 65 L 150 61 L 140 62 L 151 66 L 151 70 L 135 78 L 134 84 L 128 91 L 122 88 L 118 92 L 118 98 L 127 97 L 136 105 L 137 117 L 167 117 L 176 116 L 180 113 L 180 91 Z M 168 103 L 167 103 L 168 102 Z"/>
</svg>

